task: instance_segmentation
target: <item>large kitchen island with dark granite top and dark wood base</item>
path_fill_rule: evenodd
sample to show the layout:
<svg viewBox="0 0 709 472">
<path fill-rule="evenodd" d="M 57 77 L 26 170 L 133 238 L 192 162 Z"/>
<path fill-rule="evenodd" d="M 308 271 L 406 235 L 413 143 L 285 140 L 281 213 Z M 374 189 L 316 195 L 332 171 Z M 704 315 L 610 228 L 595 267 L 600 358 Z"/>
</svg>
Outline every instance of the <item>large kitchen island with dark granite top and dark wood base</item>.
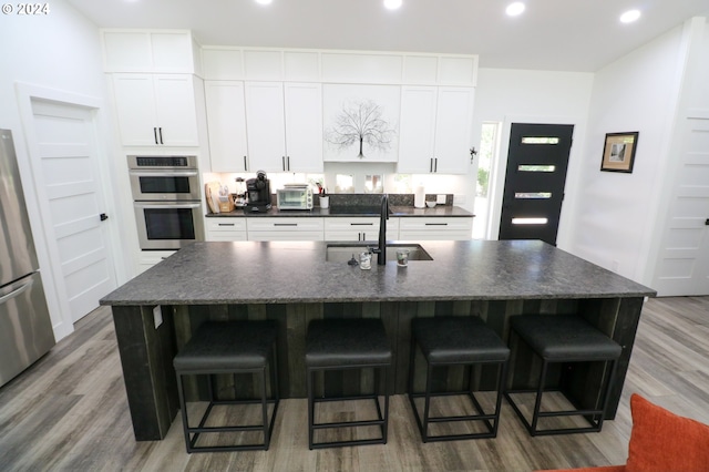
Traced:
<svg viewBox="0 0 709 472">
<path fill-rule="evenodd" d="M 432 260 L 372 264 L 362 270 L 327 261 L 328 243 L 194 243 L 101 300 L 116 329 L 129 404 L 137 440 L 162 439 L 177 412 L 172 359 L 207 319 L 276 319 L 281 397 L 305 397 L 305 337 L 311 319 L 381 318 L 390 338 L 393 393 L 407 390 L 410 324 L 423 316 L 479 316 L 507 339 L 513 315 L 579 314 L 615 339 L 623 353 L 607 419 L 615 417 L 644 298 L 655 291 L 542 242 L 423 242 Z M 511 382 L 530 381 L 530 356 L 511 366 Z M 576 400 L 589 394 L 605 369 L 574 369 Z M 561 373 L 559 373 L 561 376 Z M 451 369 L 440 384 L 463 381 Z M 485 376 L 481 380 L 485 387 Z M 533 376 L 532 376 L 533 377 Z M 220 382 L 233 382 L 220 379 Z M 367 376 L 332 373 L 329 392 L 371 382 Z M 201 386 L 192 386 L 199 396 Z M 236 388 L 238 394 L 248 390 Z"/>
</svg>

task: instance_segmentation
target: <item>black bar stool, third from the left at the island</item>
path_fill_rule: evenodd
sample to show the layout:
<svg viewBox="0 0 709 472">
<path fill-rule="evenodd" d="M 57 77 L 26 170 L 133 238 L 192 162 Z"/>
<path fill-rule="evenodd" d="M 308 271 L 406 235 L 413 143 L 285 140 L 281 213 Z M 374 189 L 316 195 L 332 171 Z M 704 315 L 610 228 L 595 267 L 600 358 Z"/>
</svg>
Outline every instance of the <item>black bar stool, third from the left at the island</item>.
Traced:
<svg viewBox="0 0 709 472">
<path fill-rule="evenodd" d="M 425 393 L 414 392 L 417 346 L 428 363 Z M 411 321 L 411 357 L 409 362 L 409 400 L 421 431 L 423 442 L 453 441 L 462 439 L 495 438 L 500 422 L 503 382 L 506 378 L 510 349 L 502 339 L 477 317 L 434 317 L 414 318 Z M 495 409 L 486 413 L 473 392 L 473 368 L 481 365 L 497 366 L 497 393 Z M 462 391 L 432 392 L 433 371 L 440 367 L 466 366 L 467 389 Z M 433 397 L 467 396 L 476 414 L 431 417 L 430 403 Z M 415 399 L 425 399 L 423 419 L 419 413 Z M 429 435 L 430 423 L 482 421 L 486 431 L 460 434 Z"/>
</svg>

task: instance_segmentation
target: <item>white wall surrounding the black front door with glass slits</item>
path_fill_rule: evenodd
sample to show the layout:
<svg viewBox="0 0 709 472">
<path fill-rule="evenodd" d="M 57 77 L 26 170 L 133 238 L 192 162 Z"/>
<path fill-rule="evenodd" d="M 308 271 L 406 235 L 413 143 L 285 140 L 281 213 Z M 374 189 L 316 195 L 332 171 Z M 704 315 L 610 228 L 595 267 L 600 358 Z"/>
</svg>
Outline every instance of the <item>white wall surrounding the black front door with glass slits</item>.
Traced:
<svg viewBox="0 0 709 472">
<path fill-rule="evenodd" d="M 569 156 L 566 198 L 562 207 L 557 237 L 559 247 L 567 246 L 573 233 L 571 209 L 574 208 L 575 188 L 578 185 L 578 170 L 583 158 L 582 148 L 593 81 L 592 73 L 480 69 L 473 115 L 475 147 L 480 148 L 483 122 L 494 121 L 503 124 L 500 158 L 493 170 L 494 175 L 491 176 L 493 211 L 490 214 L 490 234 L 492 238 L 496 238 L 500 228 L 511 124 L 513 122 L 574 124 L 574 146 Z M 472 183 L 475 182 L 475 173 L 476 170 L 471 171 Z M 473 196 L 474 189 L 474 185 L 471 184 Z"/>
</svg>

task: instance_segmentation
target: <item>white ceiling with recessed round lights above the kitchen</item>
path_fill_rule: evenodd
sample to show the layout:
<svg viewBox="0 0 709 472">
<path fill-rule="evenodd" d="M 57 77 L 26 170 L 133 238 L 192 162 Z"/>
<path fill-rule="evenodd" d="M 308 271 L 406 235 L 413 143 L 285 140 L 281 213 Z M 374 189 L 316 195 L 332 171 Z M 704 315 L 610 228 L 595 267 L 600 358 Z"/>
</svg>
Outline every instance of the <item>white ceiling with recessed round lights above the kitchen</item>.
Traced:
<svg viewBox="0 0 709 472">
<path fill-rule="evenodd" d="M 479 54 L 482 68 L 594 72 L 693 16 L 708 0 L 66 0 L 101 28 L 189 29 L 203 45 Z M 620 13 L 641 18 L 621 24 Z"/>
</svg>

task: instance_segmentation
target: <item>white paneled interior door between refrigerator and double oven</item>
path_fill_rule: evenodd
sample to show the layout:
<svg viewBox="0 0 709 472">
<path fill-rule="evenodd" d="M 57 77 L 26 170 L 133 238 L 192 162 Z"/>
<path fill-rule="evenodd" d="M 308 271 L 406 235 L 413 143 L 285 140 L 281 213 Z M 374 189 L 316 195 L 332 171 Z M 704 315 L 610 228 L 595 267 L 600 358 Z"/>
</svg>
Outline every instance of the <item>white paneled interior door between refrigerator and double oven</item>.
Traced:
<svg viewBox="0 0 709 472">
<path fill-rule="evenodd" d="M 35 99 L 32 114 L 32 170 L 52 276 L 75 322 L 116 288 L 94 116 L 88 107 Z"/>
</svg>

